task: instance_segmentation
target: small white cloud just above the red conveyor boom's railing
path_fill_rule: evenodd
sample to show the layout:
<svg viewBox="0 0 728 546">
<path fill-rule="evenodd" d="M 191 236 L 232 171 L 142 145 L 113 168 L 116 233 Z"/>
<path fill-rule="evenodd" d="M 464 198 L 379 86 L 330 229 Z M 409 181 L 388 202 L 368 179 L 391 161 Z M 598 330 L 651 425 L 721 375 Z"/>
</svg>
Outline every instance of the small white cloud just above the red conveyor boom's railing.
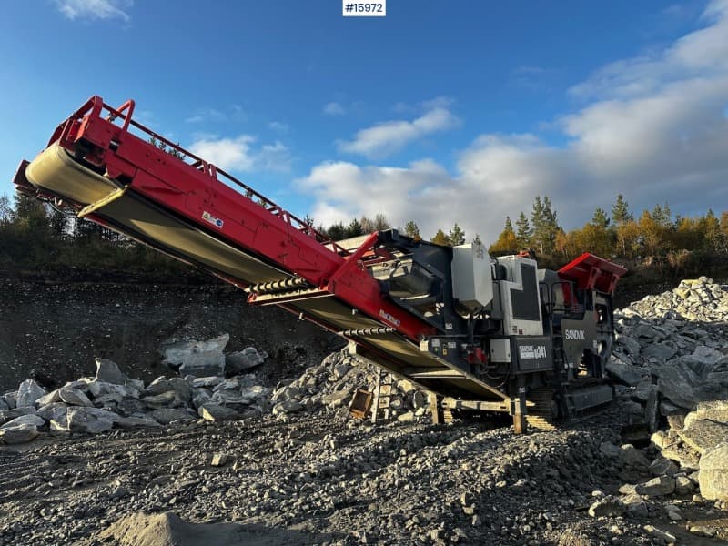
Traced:
<svg viewBox="0 0 728 546">
<path fill-rule="evenodd" d="M 237 138 L 205 136 L 193 142 L 189 150 L 198 157 L 227 171 L 290 171 L 290 150 L 282 142 L 254 147 L 255 136 Z"/>
</svg>

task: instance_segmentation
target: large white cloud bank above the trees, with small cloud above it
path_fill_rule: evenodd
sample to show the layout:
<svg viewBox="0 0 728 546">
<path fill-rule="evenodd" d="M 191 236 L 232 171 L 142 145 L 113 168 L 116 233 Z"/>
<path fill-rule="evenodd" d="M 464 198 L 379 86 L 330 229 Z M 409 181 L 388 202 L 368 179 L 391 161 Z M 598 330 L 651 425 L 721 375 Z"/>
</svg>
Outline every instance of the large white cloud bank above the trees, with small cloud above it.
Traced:
<svg viewBox="0 0 728 546">
<path fill-rule="evenodd" d="M 552 126 L 565 144 L 537 135 L 485 134 L 449 173 L 431 160 L 408 167 L 322 163 L 299 180 L 317 197 L 317 222 L 384 212 L 426 237 L 458 221 L 468 237 L 494 240 L 506 215 L 548 195 L 564 227 L 581 227 L 595 207 L 624 194 L 636 215 L 668 201 L 683 216 L 728 208 L 728 0 L 713 2 L 703 28 L 662 51 L 614 62 L 571 93 L 583 102 Z M 544 120 L 548 121 L 548 120 Z M 414 122 L 365 129 L 359 153 L 407 140 Z M 430 124 L 428 126 L 437 126 Z"/>
</svg>

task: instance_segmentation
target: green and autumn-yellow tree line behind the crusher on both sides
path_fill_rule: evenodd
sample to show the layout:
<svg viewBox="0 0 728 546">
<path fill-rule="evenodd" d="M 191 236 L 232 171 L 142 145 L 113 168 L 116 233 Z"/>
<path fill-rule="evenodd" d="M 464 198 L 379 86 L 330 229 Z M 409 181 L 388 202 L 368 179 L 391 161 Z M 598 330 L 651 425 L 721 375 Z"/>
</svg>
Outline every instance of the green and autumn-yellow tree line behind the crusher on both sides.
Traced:
<svg viewBox="0 0 728 546">
<path fill-rule="evenodd" d="M 314 225 L 311 217 L 305 221 Z M 348 224 L 319 225 L 318 230 L 340 240 L 390 227 L 389 219 L 378 214 L 373 218 L 353 218 Z M 399 228 L 411 238 L 422 238 L 414 220 Z M 447 231 L 439 228 L 430 238 L 440 245 L 461 245 L 468 240 L 457 222 Z M 482 242 L 478 234 L 470 241 Z M 490 245 L 489 252 L 500 256 L 524 248 L 532 248 L 546 263 L 551 262 L 550 265 L 569 261 L 582 252 L 592 252 L 612 259 L 650 257 L 657 265 L 667 262 L 674 268 L 690 268 L 691 260 L 701 254 L 728 255 L 728 211 L 716 215 L 709 209 L 703 216 L 681 217 L 673 215 L 670 206 L 664 203 L 635 217 L 620 194 L 609 213 L 597 207 L 583 227 L 567 231 L 561 227 L 551 199 L 537 196 L 530 215 L 521 211 L 515 222 L 510 216 L 505 218 L 501 234 Z M 13 204 L 9 197 L 0 196 L 0 269 L 56 266 L 147 270 L 160 277 L 189 272 L 175 260 L 145 245 L 69 215 L 50 203 L 17 194 Z"/>
</svg>

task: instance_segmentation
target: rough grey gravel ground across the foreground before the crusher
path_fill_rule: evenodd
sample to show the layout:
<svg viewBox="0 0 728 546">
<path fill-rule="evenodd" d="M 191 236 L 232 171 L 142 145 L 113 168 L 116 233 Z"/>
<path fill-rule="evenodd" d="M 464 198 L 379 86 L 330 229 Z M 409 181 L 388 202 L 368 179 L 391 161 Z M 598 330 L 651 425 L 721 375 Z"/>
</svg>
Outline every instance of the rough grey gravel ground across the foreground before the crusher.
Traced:
<svg viewBox="0 0 728 546">
<path fill-rule="evenodd" d="M 371 427 L 320 410 L 44 440 L 0 451 L 0 543 L 665 543 L 647 524 L 678 543 L 721 543 L 687 533 L 659 501 L 645 519 L 587 514 L 592 491 L 616 492 L 625 477 L 600 452 L 620 443 L 619 423 L 612 410 L 515 436 L 483 423 Z M 681 507 L 711 525 L 728 517 L 689 497 Z M 164 525 L 124 519 L 139 511 Z M 164 512 L 239 525 L 197 529 L 195 541 L 195 526 Z"/>
</svg>

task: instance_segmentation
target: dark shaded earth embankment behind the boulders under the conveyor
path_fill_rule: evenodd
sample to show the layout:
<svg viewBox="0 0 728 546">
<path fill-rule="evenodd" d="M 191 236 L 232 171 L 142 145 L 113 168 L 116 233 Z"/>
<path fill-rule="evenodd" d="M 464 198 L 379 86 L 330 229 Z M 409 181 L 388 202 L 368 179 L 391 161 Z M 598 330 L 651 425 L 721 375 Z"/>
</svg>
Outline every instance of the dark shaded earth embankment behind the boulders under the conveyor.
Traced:
<svg viewBox="0 0 728 546">
<path fill-rule="evenodd" d="M 268 352 L 271 379 L 317 364 L 341 341 L 278 308 L 248 306 L 227 286 L 19 281 L 0 278 L 0 391 L 24 379 L 57 386 L 94 375 L 94 359 L 118 362 L 129 377 L 167 373 L 160 345 L 229 333 L 227 350 Z M 297 368 L 298 367 L 298 368 Z M 35 370 L 35 373 L 34 373 Z"/>
</svg>

